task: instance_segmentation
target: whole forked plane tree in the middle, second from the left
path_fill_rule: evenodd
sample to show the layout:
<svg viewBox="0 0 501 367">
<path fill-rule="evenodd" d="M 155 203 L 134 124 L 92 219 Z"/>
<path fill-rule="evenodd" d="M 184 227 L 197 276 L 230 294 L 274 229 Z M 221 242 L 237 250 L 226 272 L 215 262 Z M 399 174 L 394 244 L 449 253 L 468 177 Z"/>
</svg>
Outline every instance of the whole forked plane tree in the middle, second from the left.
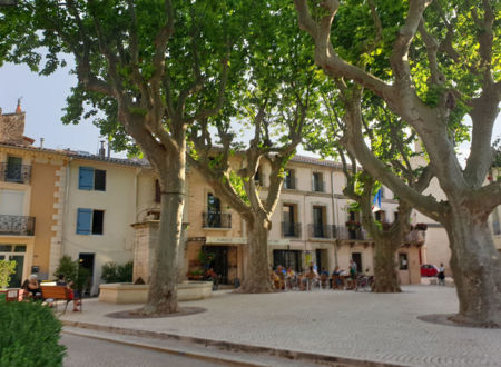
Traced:
<svg viewBox="0 0 501 367">
<path fill-rule="evenodd" d="M 233 83 L 234 103 L 194 126 L 189 163 L 246 224 L 245 274 L 239 291 L 268 292 L 271 217 L 285 166 L 302 141 L 325 77 L 314 66 L 313 48 L 305 46 L 307 36 L 297 33 L 291 3 L 257 7 L 247 17 L 245 82 Z M 259 172 L 265 162 L 271 167 L 266 187 Z"/>
</svg>

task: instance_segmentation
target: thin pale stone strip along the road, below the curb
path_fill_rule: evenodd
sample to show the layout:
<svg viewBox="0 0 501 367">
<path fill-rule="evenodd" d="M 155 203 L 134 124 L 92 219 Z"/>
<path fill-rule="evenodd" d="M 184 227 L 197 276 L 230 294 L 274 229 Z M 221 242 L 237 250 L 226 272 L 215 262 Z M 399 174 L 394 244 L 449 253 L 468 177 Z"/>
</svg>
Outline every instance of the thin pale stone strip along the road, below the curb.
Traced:
<svg viewBox="0 0 501 367">
<path fill-rule="evenodd" d="M 115 339 L 115 338 L 102 337 L 102 336 L 97 336 L 97 335 L 89 335 L 89 334 L 85 334 L 85 333 L 76 333 L 76 331 L 71 331 L 71 330 L 62 330 L 62 333 L 81 336 L 81 337 L 86 337 L 86 338 L 98 339 L 98 340 L 106 340 L 106 341 L 127 345 L 127 346 L 131 346 L 131 347 L 155 350 L 155 351 L 168 353 L 168 354 L 176 355 L 176 356 L 189 357 L 189 358 L 195 358 L 195 359 L 205 360 L 205 361 L 225 364 L 225 365 L 230 365 L 230 366 L 248 366 L 248 367 L 264 366 L 264 365 L 259 365 L 259 364 L 250 364 L 250 363 L 239 361 L 239 360 L 229 359 L 229 358 L 213 357 L 213 356 L 208 356 L 208 355 L 202 355 L 202 354 L 189 353 L 189 351 L 180 351 L 180 350 L 175 350 L 171 348 L 153 346 L 153 345 L 143 344 L 143 343 L 119 340 L 119 339 Z"/>
</svg>

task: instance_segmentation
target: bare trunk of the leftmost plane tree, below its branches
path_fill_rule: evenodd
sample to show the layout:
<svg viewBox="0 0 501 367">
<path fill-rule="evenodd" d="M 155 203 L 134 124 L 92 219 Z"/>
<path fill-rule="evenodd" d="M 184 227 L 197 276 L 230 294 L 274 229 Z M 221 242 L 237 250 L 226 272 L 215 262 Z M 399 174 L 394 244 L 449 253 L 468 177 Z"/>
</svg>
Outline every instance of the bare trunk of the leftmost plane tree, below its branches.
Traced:
<svg viewBox="0 0 501 367">
<path fill-rule="evenodd" d="M 177 254 L 185 204 L 185 153 L 168 159 L 169 170 L 159 172 L 161 216 L 149 280 L 145 314 L 173 314 L 177 305 Z"/>
</svg>

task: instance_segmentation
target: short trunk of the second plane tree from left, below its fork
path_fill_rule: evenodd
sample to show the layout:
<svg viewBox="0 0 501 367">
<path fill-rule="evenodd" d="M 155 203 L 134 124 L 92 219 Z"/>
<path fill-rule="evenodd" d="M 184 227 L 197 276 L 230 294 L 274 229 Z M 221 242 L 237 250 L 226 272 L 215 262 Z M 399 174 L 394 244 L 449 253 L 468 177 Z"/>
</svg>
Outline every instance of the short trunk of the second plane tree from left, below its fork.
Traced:
<svg viewBox="0 0 501 367">
<path fill-rule="evenodd" d="M 238 291 L 245 294 L 271 292 L 273 289 L 268 266 L 269 222 L 266 218 L 254 215 L 252 220 L 247 220 L 247 225 L 245 277 Z"/>
</svg>

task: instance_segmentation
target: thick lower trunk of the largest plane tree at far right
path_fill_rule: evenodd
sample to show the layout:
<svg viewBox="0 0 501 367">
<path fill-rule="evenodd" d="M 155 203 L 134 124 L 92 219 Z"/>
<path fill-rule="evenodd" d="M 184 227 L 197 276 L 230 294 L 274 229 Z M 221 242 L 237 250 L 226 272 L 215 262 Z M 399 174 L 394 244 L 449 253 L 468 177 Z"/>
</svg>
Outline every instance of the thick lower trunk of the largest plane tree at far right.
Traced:
<svg viewBox="0 0 501 367">
<path fill-rule="evenodd" d="M 501 256 L 494 248 L 487 216 L 481 219 L 466 210 L 456 208 L 444 224 L 460 302 L 455 319 L 501 327 Z"/>
</svg>

